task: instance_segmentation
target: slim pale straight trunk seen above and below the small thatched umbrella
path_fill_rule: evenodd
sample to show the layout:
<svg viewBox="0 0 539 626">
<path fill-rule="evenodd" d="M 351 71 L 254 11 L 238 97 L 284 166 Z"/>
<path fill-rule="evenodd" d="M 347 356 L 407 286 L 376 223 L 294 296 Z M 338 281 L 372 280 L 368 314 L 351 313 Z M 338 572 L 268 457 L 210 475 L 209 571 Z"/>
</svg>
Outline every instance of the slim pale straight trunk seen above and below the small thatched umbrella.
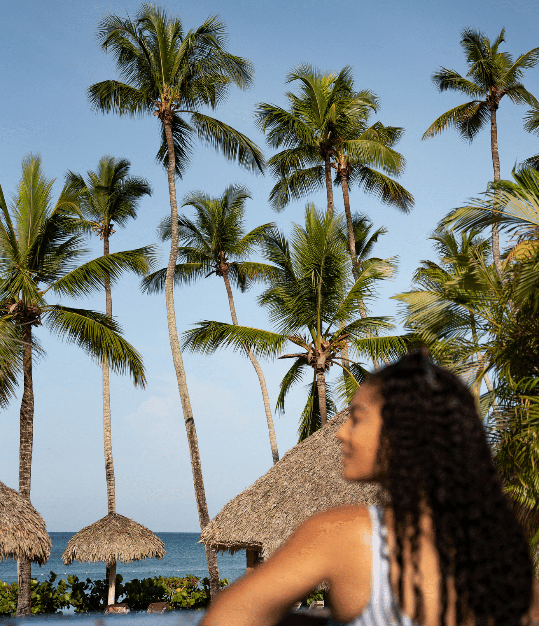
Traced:
<svg viewBox="0 0 539 626">
<path fill-rule="evenodd" d="M 103 233 L 103 256 L 109 254 L 108 233 Z M 110 280 L 105 280 L 105 307 L 106 315 L 112 319 L 112 294 Z M 114 462 L 112 456 L 112 429 L 110 424 L 110 371 L 108 359 L 103 359 L 103 449 L 105 451 L 106 499 L 108 515 L 116 513 L 116 485 L 114 477 Z M 116 563 L 106 568 L 108 578 L 108 604 L 115 603 L 116 594 Z"/>
</svg>

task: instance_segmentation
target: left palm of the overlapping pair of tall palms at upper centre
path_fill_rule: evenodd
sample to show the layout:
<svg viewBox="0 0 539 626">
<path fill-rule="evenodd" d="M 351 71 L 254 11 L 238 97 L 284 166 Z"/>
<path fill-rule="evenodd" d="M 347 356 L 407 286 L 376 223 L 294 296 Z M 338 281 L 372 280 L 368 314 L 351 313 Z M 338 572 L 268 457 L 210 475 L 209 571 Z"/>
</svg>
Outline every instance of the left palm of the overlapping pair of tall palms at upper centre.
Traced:
<svg viewBox="0 0 539 626">
<path fill-rule="evenodd" d="M 285 149 L 272 156 L 268 165 L 279 182 L 270 193 L 270 203 L 282 210 L 291 200 L 326 187 L 327 212 L 333 212 L 332 159 L 336 150 L 336 128 L 342 117 L 365 117 L 367 108 L 376 111 L 377 96 L 369 90 L 354 91 L 352 70 L 322 73 L 309 64 L 300 65 L 287 76 L 299 80 L 300 95 L 286 93 L 290 108 L 259 103 L 255 120 L 272 148 Z M 377 160 L 387 160 L 388 148 L 371 139 L 354 136 L 349 151 L 365 160 L 374 151 Z"/>
</svg>

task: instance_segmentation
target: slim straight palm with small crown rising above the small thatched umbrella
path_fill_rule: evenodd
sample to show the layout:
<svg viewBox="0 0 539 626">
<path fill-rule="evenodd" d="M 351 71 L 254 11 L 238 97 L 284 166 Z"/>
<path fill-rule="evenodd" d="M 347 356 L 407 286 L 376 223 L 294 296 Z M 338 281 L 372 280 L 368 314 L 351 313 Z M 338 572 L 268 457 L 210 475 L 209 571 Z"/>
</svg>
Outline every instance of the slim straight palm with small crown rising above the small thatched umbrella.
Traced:
<svg viewBox="0 0 539 626">
<path fill-rule="evenodd" d="M 81 209 L 84 220 L 81 226 L 95 233 L 103 242 L 103 256 L 110 252 L 109 239 L 114 226 L 125 226 L 136 218 L 138 198 L 151 195 L 150 183 L 144 178 L 130 177 L 131 163 L 127 159 L 103 156 L 95 172 L 88 172 L 86 181 L 80 174 L 68 172 L 66 180 L 82 192 Z M 130 251 L 133 252 L 132 250 Z M 106 315 L 112 319 L 112 295 L 110 280 L 105 279 Z M 110 368 L 103 359 L 103 444 L 105 447 L 105 474 L 107 506 L 109 515 L 116 513 L 116 490 L 112 437 L 110 424 Z"/>
</svg>

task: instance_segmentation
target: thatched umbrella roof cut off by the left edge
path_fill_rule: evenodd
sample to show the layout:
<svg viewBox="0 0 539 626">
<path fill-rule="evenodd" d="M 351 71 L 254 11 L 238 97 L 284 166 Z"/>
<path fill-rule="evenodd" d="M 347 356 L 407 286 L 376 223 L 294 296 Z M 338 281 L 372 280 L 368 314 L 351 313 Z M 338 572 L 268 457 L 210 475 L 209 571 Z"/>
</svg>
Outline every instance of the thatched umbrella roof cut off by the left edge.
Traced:
<svg viewBox="0 0 539 626">
<path fill-rule="evenodd" d="M 51 556 L 45 520 L 18 491 L 0 482 L 0 560 L 28 557 L 43 565 Z"/>
</svg>

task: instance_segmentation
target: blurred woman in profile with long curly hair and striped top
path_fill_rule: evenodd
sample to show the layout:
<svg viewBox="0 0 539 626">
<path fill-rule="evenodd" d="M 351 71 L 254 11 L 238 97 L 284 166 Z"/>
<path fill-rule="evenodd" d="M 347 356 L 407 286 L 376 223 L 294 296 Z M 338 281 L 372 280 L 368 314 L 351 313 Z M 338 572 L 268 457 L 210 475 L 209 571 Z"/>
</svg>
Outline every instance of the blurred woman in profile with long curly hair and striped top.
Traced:
<svg viewBox="0 0 539 626">
<path fill-rule="evenodd" d="M 323 580 L 334 616 L 354 626 L 539 622 L 525 536 L 456 377 L 404 357 L 357 391 L 338 437 L 344 478 L 381 482 L 389 505 L 307 520 L 201 626 L 269 626 Z"/>
</svg>

